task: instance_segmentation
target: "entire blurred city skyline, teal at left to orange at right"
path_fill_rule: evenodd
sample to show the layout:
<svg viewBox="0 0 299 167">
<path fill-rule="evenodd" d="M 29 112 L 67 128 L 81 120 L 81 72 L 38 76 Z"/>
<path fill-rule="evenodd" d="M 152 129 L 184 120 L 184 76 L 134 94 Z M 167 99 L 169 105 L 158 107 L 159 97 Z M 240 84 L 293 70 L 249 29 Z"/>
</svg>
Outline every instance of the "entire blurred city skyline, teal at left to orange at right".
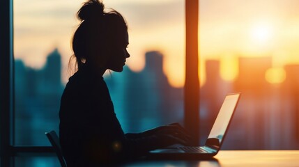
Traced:
<svg viewBox="0 0 299 167">
<path fill-rule="evenodd" d="M 28 145 L 26 142 L 43 145 L 47 143 L 43 132 L 58 127 L 63 90 L 61 73 L 57 70 L 57 65 L 61 65 L 59 55 L 54 49 L 47 55 L 47 65 L 40 70 L 15 61 L 15 132 L 20 145 Z M 170 122 L 183 123 L 183 88 L 169 84 L 162 72 L 163 61 L 160 52 L 149 51 L 146 67 L 141 72 L 125 67 L 123 73 L 105 77 L 125 132 L 140 132 Z M 299 65 L 286 66 L 286 81 L 277 87 L 271 86 L 264 77 L 271 63 L 270 57 L 241 58 L 240 75 L 236 81 L 228 82 L 220 77 L 220 61 L 206 61 L 207 81 L 200 90 L 201 142 L 206 139 L 224 96 L 241 92 L 224 150 L 299 148 L 299 79 L 294 77 Z M 26 129 L 25 125 L 36 131 Z"/>
</svg>

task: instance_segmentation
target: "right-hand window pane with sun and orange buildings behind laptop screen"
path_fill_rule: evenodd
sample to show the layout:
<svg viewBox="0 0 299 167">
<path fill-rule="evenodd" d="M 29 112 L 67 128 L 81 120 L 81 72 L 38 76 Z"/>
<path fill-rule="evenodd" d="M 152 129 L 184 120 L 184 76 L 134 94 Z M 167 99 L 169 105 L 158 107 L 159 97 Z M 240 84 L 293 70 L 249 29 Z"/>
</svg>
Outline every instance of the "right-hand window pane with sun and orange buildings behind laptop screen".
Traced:
<svg viewBox="0 0 299 167">
<path fill-rule="evenodd" d="M 241 92 L 231 150 L 299 149 L 299 1 L 200 1 L 202 142 Z"/>
</svg>

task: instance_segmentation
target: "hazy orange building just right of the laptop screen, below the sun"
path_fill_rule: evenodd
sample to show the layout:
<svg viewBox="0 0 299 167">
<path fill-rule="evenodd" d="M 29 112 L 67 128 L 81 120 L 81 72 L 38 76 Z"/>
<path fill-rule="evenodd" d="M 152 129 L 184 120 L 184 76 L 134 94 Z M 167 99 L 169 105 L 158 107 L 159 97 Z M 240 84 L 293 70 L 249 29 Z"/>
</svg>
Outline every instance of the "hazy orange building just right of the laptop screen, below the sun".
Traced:
<svg viewBox="0 0 299 167">
<path fill-rule="evenodd" d="M 267 119 L 268 93 L 270 84 L 265 79 L 266 71 L 272 67 L 272 58 L 253 57 L 239 58 L 239 75 L 234 90 L 241 92 L 236 119 L 238 128 L 243 129 L 238 136 L 242 145 L 240 149 L 263 149 L 266 145 L 268 128 Z"/>
</svg>

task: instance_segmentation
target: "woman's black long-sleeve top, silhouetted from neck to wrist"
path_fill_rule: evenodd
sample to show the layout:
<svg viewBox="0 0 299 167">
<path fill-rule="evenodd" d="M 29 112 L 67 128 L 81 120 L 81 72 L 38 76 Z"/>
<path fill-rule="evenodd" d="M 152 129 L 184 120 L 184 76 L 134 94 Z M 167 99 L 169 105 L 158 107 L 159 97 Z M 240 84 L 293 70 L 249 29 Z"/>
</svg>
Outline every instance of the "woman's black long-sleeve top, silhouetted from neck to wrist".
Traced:
<svg viewBox="0 0 299 167">
<path fill-rule="evenodd" d="M 126 159 L 163 146 L 157 136 L 124 134 L 104 79 L 89 67 L 70 77 L 61 97 L 59 118 L 67 163 Z"/>
</svg>

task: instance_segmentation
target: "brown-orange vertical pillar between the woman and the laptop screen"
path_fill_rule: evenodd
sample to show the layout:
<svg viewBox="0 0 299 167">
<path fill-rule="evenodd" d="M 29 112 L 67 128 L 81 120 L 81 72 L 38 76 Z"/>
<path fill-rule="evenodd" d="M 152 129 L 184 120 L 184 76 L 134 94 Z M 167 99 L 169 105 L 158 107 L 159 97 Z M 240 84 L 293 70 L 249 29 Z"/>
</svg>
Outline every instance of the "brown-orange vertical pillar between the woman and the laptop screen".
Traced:
<svg viewBox="0 0 299 167">
<path fill-rule="evenodd" d="M 185 0 L 186 58 L 185 58 L 185 128 L 199 143 L 199 0 Z"/>
</svg>

